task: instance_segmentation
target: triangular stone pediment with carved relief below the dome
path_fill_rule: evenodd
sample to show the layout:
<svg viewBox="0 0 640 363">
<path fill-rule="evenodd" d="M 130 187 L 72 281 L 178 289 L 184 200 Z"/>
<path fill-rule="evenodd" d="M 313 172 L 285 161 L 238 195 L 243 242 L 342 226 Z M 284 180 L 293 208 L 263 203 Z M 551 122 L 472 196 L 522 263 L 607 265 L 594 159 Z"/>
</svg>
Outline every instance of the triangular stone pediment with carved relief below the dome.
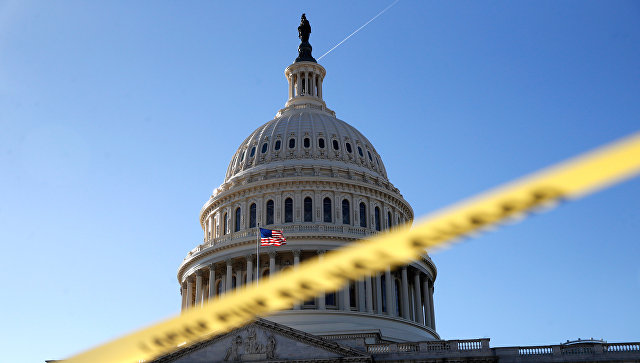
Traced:
<svg viewBox="0 0 640 363">
<path fill-rule="evenodd" d="M 240 329 L 195 344 L 154 362 L 371 362 L 362 351 L 316 335 L 258 319 Z"/>
</svg>

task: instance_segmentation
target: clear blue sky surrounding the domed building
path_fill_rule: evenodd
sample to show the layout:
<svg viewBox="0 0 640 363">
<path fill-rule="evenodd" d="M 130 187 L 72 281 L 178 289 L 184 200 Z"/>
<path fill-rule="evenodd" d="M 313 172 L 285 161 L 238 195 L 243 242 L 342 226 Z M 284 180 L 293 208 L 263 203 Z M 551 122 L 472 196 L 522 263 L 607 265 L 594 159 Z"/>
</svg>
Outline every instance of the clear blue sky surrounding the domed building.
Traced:
<svg viewBox="0 0 640 363">
<path fill-rule="evenodd" d="M 0 348 L 61 359 L 180 308 L 240 142 L 391 1 L 0 2 Z M 640 129 L 633 1 L 400 0 L 322 59 L 324 98 L 416 216 Z M 640 180 L 432 257 L 443 339 L 639 341 Z M 3 358 L 3 359 L 4 359 Z"/>
</svg>

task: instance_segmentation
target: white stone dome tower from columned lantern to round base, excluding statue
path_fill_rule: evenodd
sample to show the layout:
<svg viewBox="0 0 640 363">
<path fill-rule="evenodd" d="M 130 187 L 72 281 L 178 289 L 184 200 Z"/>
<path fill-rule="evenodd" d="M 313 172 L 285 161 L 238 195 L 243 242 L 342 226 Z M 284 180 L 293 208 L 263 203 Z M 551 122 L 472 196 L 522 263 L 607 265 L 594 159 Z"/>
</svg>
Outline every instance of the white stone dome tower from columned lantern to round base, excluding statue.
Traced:
<svg viewBox="0 0 640 363">
<path fill-rule="evenodd" d="M 200 212 L 204 242 L 180 268 L 182 309 L 378 231 L 411 222 L 413 210 L 387 178 L 382 158 L 322 100 L 326 71 L 313 62 L 285 70 L 289 99 L 239 146 L 224 183 Z M 261 247 L 257 227 L 287 244 Z M 426 255 L 269 317 L 311 334 L 377 332 L 388 341 L 439 339 L 436 268 Z"/>
</svg>

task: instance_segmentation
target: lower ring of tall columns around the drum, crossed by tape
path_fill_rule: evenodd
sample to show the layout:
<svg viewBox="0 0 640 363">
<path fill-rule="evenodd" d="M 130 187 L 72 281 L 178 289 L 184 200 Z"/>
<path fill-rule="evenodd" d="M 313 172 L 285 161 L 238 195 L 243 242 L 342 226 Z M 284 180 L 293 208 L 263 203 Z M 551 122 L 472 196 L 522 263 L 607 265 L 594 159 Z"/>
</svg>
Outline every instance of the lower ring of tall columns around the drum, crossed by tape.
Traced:
<svg viewBox="0 0 640 363">
<path fill-rule="evenodd" d="M 322 258 L 324 250 L 271 250 L 260 253 L 260 266 L 254 266 L 255 254 L 229 258 L 203 265 L 184 279 L 182 310 L 202 305 L 227 291 L 252 283 L 256 274 L 266 277 L 279 269 L 300 263 L 302 257 Z M 435 330 L 433 281 L 421 269 L 402 266 L 396 270 L 368 276 L 337 292 L 325 292 L 293 307 L 293 310 L 344 310 L 401 317 Z"/>
</svg>

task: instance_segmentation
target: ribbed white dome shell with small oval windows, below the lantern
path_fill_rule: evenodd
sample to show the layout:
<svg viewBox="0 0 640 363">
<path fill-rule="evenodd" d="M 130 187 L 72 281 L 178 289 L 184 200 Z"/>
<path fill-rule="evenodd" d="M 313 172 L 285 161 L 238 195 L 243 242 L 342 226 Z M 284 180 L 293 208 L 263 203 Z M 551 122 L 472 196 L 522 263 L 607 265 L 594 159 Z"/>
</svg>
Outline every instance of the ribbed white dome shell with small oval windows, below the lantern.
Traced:
<svg viewBox="0 0 640 363">
<path fill-rule="evenodd" d="M 313 108 L 288 110 L 252 132 L 231 159 L 225 183 L 274 165 L 330 165 L 387 179 L 380 155 L 360 131 Z"/>
</svg>

